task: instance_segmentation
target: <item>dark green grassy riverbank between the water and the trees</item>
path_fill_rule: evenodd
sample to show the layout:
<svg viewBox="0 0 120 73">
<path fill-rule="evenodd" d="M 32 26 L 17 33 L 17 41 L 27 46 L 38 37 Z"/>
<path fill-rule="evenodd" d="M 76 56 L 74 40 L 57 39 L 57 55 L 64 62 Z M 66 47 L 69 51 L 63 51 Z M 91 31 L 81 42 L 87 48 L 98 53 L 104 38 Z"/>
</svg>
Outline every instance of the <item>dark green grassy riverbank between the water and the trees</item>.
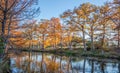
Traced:
<svg viewBox="0 0 120 73">
<path fill-rule="evenodd" d="M 19 54 L 20 51 L 27 51 L 27 52 L 45 52 L 45 53 L 51 53 L 56 54 L 60 56 L 76 56 L 76 57 L 95 57 L 95 58 L 108 58 L 108 59 L 117 59 L 120 60 L 120 53 L 117 51 L 105 51 L 101 52 L 101 50 L 94 50 L 94 51 L 84 51 L 81 49 L 54 49 L 54 50 L 35 50 L 35 49 L 17 49 L 15 52 L 16 54 Z"/>
</svg>

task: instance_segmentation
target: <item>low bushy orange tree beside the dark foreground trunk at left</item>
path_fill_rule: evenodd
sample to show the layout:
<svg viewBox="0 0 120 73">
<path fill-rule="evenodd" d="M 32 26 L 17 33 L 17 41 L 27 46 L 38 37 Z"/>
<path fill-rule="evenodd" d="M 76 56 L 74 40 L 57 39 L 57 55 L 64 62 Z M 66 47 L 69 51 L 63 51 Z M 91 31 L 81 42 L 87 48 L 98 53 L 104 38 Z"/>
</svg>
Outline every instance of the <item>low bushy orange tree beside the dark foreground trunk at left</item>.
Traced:
<svg viewBox="0 0 120 73">
<path fill-rule="evenodd" d="M 8 46 L 11 46 L 11 48 L 21 48 L 24 47 L 23 44 L 26 43 L 24 37 L 23 37 L 23 32 L 20 31 L 21 28 L 20 26 L 16 25 L 16 26 L 12 26 L 10 28 L 10 36 L 8 39 Z"/>
</svg>

